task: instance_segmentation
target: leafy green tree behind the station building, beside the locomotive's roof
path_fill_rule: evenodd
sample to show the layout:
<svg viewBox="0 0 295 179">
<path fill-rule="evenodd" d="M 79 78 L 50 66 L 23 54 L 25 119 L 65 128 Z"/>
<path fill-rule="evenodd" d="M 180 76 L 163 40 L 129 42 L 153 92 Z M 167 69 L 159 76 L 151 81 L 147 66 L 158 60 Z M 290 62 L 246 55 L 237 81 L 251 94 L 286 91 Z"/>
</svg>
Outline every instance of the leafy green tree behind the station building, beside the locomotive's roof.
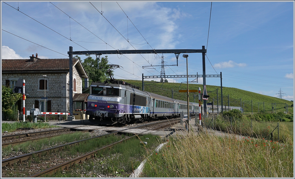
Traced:
<svg viewBox="0 0 295 179">
<path fill-rule="evenodd" d="M 92 82 L 104 82 L 106 79 L 109 79 L 109 73 L 107 72 L 110 67 L 108 66 L 108 56 L 101 57 L 98 61 L 99 69 L 97 69 L 97 60 L 93 59 L 90 55 L 86 55 L 86 59 L 83 60 L 82 65 L 88 74 L 89 85 Z M 81 61 L 81 58 L 76 55 L 74 58 L 77 58 Z M 111 72 L 113 74 L 113 72 Z M 82 88 L 84 89 L 84 81 L 82 82 Z"/>
</svg>

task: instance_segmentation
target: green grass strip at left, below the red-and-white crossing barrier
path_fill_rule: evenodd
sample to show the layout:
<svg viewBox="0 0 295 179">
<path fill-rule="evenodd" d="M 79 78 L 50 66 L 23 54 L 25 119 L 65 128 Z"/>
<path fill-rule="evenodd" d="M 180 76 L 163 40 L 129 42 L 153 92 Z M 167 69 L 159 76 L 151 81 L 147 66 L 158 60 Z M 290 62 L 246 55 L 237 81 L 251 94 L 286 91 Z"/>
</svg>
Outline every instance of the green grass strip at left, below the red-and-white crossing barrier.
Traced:
<svg viewBox="0 0 295 179">
<path fill-rule="evenodd" d="M 46 129 L 46 128 L 51 128 L 51 127 L 59 127 L 59 126 L 50 125 L 47 122 L 37 122 L 37 123 L 32 123 L 32 122 L 7 123 L 7 122 L 4 122 L 4 123 L 2 123 L 2 133 L 3 133 L 3 131 L 14 132 L 18 128 Z"/>
</svg>

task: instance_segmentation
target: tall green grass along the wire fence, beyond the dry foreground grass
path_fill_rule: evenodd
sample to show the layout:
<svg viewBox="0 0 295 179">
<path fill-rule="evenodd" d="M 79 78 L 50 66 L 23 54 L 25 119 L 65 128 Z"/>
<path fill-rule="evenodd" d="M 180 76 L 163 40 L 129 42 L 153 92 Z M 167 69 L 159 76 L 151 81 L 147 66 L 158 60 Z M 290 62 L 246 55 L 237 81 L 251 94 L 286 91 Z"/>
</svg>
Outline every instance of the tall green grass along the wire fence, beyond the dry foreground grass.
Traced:
<svg viewBox="0 0 295 179">
<path fill-rule="evenodd" d="M 214 118 L 215 117 L 216 119 L 213 120 L 214 128 L 220 131 L 233 132 L 235 134 L 246 135 L 255 138 L 271 139 L 271 132 L 279 124 L 279 141 L 286 142 L 288 139 L 293 140 L 293 130 L 289 130 L 289 125 L 293 125 L 293 122 L 259 122 L 252 120 L 251 129 L 251 120 L 245 116 L 242 116 L 241 119 L 235 117 L 230 119 L 230 117 L 224 117 L 222 115 L 214 116 Z M 205 119 L 205 124 L 207 127 L 213 127 L 211 120 L 212 116 L 209 116 Z M 273 131 L 273 138 L 271 140 L 278 141 L 278 128 Z"/>
</svg>

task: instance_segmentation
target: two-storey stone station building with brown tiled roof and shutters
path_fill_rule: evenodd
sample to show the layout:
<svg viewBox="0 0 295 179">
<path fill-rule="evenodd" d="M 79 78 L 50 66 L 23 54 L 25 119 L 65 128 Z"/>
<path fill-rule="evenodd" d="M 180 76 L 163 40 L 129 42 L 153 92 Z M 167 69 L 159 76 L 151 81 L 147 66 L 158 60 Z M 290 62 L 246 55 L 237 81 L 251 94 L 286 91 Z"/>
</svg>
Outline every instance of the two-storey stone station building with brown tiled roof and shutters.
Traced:
<svg viewBox="0 0 295 179">
<path fill-rule="evenodd" d="M 45 79 L 43 75 L 46 75 Z M 25 110 L 34 105 L 43 112 L 44 99 L 41 98 L 45 93 L 48 97 L 46 112 L 70 112 L 69 59 L 40 59 L 38 54 L 30 59 L 2 59 L 2 85 L 12 88 L 19 78 L 25 80 L 25 91 L 29 94 L 26 95 Z M 73 58 L 73 97 L 82 93 L 82 80 L 88 82 L 88 76 L 80 60 Z M 17 105 L 22 111 L 22 100 Z"/>
</svg>

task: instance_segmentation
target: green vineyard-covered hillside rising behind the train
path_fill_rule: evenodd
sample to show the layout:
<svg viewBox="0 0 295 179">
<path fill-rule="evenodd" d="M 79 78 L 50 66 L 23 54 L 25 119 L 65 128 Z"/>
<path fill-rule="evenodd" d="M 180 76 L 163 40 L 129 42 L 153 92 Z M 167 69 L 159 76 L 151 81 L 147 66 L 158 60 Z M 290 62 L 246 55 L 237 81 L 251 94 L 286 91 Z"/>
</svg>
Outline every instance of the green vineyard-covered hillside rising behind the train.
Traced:
<svg viewBox="0 0 295 179">
<path fill-rule="evenodd" d="M 128 80 L 128 79 L 122 79 L 122 81 L 126 81 L 128 83 L 134 84 L 138 87 L 140 87 L 140 90 L 142 90 L 142 81 L 140 80 Z M 201 93 L 203 91 L 203 84 L 189 84 L 189 90 L 198 90 L 198 88 L 201 88 Z M 160 83 L 160 82 L 153 82 L 153 81 L 145 81 L 145 91 L 152 92 L 158 95 L 166 96 L 166 97 L 172 97 L 172 89 L 173 98 L 178 100 L 186 100 L 186 93 L 178 93 L 178 90 L 186 90 L 186 84 L 181 83 Z M 220 86 L 212 86 L 212 85 L 206 85 L 208 95 L 210 95 L 208 102 L 212 102 L 214 98 L 214 105 L 217 105 L 217 88 L 218 88 L 218 103 L 221 105 L 221 90 Z M 214 91 L 214 92 L 209 92 Z M 293 104 L 291 101 L 283 100 L 277 97 L 271 97 L 266 95 L 260 95 L 258 93 L 240 90 L 237 88 L 231 88 L 231 87 L 222 87 L 222 93 L 223 93 L 223 105 L 228 105 L 228 97 L 230 98 L 230 106 L 240 106 L 240 98 L 242 98 L 242 107 L 244 102 L 244 109 L 246 112 L 251 112 L 251 100 L 253 100 L 253 112 L 258 112 L 258 102 L 259 102 L 259 110 L 263 110 L 263 102 L 265 106 L 265 111 L 271 111 L 272 104 L 276 103 L 276 109 L 282 109 L 285 107 L 285 103 L 288 104 L 289 112 L 291 112 L 290 106 Z M 197 95 L 197 93 L 195 93 Z M 196 102 L 198 101 L 198 97 L 195 98 Z M 194 102 L 194 94 L 190 93 L 189 95 L 189 101 Z M 248 102 L 246 102 L 248 101 Z M 249 102 L 250 101 L 250 102 Z M 275 107 L 275 105 L 273 105 Z M 277 111 L 278 112 L 278 111 Z"/>
</svg>

